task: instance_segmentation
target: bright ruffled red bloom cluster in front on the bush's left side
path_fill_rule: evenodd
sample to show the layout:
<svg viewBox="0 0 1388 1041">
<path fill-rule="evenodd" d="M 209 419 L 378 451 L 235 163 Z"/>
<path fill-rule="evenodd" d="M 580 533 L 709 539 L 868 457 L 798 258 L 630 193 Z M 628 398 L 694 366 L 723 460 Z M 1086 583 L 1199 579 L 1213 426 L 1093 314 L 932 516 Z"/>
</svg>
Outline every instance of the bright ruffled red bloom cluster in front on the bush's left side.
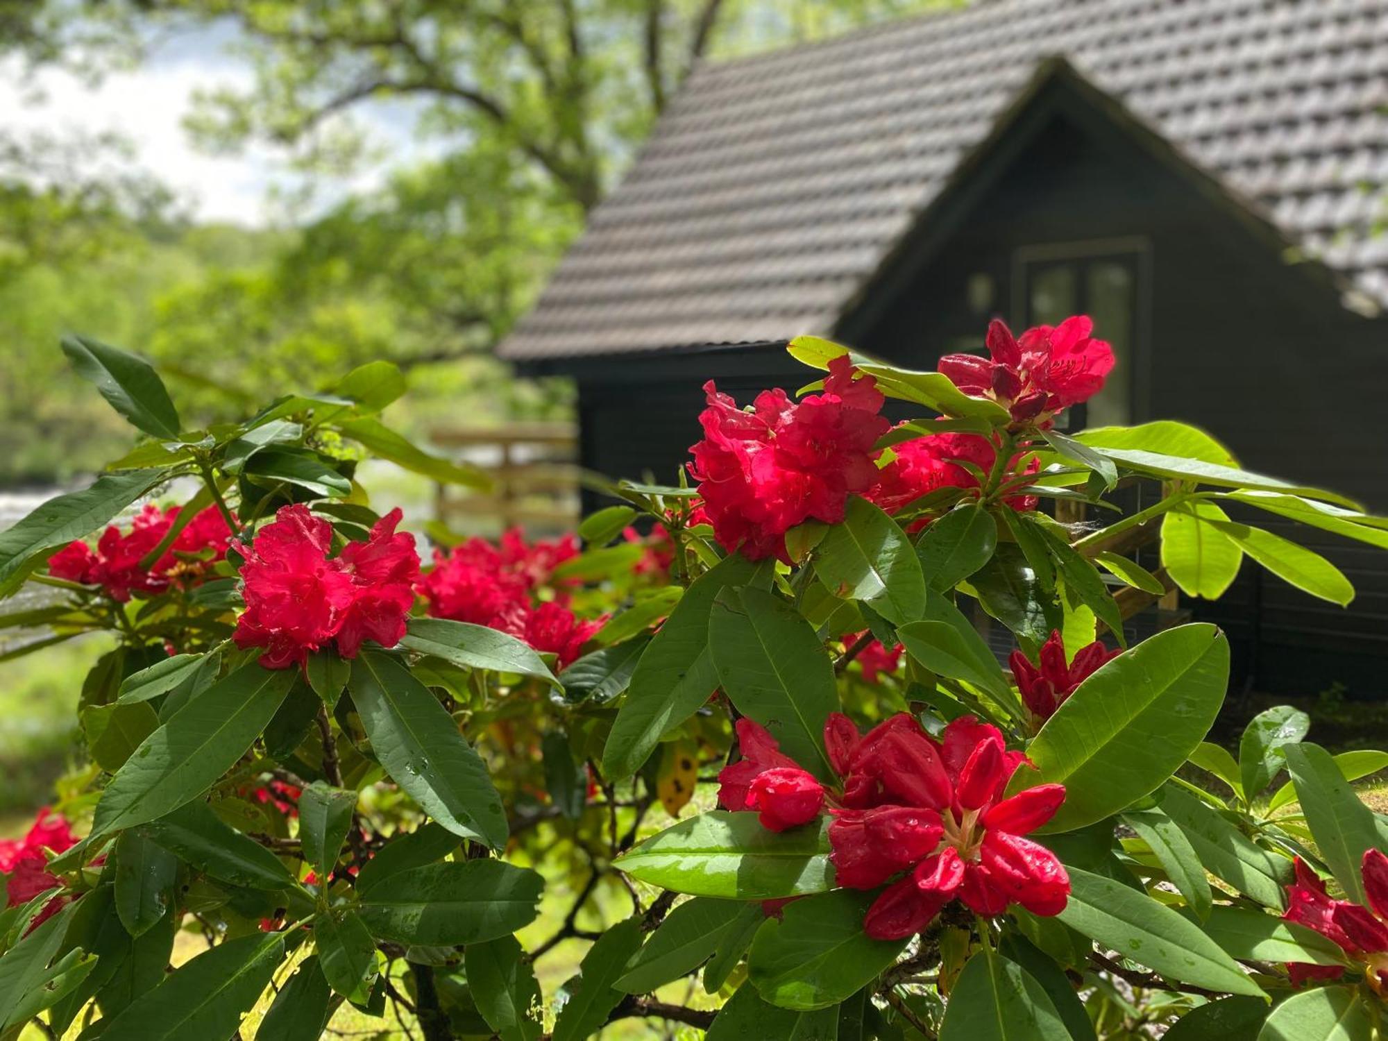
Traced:
<svg viewBox="0 0 1388 1041">
<path fill-rule="evenodd" d="M 355 658 L 365 640 L 400 643 L 419 577 L 415 537 L 396 533 L 400 516 L 390 511 L 366 541 L 329 559 L 332 525 L 308 507 L 283 507 L 247 551 L 236 645 L 264 647 L 261 665 L 287 669 L 333 643 L 343 658 Z"/>
</svg>

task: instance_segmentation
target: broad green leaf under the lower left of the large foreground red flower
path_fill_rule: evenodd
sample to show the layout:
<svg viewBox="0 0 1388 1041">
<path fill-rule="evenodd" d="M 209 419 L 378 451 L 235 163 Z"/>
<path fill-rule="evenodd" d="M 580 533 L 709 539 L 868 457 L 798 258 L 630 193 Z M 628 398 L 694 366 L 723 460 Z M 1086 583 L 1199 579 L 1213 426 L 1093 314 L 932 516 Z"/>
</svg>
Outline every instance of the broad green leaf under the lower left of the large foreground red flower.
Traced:
<svg viewBox="0 0 1388 1041">
<path fill-rule="evenodd" d="M 747 979 L 762 999 L 787 1009 L 837 1005 L 876 979 L 906 949 L 873 940 L 863 916 L 876 894 L 834 890 L 787 904 L 756 930 Z"/>
</svg>

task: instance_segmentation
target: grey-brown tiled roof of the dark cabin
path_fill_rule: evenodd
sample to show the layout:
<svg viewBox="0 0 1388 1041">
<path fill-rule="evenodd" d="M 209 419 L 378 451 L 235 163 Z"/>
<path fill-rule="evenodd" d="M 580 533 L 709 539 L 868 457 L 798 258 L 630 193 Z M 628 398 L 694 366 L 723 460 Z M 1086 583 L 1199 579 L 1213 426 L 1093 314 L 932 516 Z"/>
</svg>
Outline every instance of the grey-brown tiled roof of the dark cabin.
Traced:
<svg viewBox="0 0 1388 1041">
<path fill-rule="evenodd" d="M 1055 56 L 1388 303 L 1388 0 L 981 0 L 697 69 L 501 354 L 833 329 Z"/>
</svg>

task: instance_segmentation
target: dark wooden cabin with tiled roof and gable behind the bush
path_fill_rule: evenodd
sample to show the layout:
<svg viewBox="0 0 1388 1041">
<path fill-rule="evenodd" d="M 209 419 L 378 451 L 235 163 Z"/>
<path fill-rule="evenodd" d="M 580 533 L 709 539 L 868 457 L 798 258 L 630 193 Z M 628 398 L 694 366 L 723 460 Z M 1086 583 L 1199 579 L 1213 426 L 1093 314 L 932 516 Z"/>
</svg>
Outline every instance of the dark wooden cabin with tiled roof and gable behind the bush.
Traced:
<svg viewBox="0 0 1388 1041">
<path fill-rule="evenodd" d="M 1088 422 L 1174 418 L 1388 511 L 1388 0 L 994 0 L 695 72 L 501 355 L 577 382 L 582 461 L 672 480 L 701 384 L 913 368 L 1095 318 Z M 1264 523 L 1264 520 L 1260 520 Z M 1349 609 L 1246 566 L 1242 679 L 1388 694 L 1388 554 L 1295 525 Z"/>
</svg>

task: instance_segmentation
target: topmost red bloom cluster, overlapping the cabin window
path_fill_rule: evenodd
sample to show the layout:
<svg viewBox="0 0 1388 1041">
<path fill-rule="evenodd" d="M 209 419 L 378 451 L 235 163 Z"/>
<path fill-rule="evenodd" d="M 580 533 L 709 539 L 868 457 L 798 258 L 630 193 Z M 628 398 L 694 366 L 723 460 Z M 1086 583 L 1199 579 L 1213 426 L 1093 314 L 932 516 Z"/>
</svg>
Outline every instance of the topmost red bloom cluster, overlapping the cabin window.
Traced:
<svg viewBox="0 0 1388 1041">
<path fill-rule="evenodd" d="M 1045 426 L 1070 405 L 1087 401 L 1113 368 L 1113 348 L 1090 336 L 1088 315 L 1058 326 L 1038 325 L 1013 339 L 1004 322 L 988 326 L 988 354 L 947 354 L 940 372 L 965 394 L 987 397 L 1012 414 L 1013 422 Z"/>
</svg>

